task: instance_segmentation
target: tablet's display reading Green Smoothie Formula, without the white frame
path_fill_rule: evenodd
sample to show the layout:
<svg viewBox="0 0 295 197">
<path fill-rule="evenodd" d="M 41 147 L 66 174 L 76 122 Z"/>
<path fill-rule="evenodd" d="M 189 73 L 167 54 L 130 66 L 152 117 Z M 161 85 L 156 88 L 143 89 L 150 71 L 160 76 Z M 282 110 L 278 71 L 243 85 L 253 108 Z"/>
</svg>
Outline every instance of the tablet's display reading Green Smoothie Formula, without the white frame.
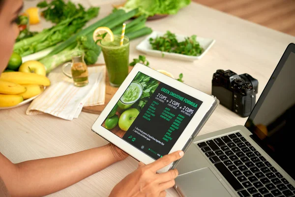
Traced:
<svg viewBox="0 0 295 197">
<path fill-rule="evenodd" d="M 138 72 L 102 126 L 156 160 L 170 152 L 202 103 Z"/>
</svg>

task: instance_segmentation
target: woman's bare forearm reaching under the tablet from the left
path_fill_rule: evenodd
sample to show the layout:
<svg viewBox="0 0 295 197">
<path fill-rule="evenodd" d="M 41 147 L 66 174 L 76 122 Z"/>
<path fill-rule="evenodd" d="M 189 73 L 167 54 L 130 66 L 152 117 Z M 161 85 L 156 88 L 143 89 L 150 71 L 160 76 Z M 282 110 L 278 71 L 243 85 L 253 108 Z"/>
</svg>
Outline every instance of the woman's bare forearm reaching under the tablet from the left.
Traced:
<svg viewBox="0 0 295 197">
<path fill-rule="evenodd" d="M 0 176 L 12 197 L 40 197 L 77 183 L 126 157 L 126 153 L 112 144 L 19 164 L 0 154 Z"/>
</svg>

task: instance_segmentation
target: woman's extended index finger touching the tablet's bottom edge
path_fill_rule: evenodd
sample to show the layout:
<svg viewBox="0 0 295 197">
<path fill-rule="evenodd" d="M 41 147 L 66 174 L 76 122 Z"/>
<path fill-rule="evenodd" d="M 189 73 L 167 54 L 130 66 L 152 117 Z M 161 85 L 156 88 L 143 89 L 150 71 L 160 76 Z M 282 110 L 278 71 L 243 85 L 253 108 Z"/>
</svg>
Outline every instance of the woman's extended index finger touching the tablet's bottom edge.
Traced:
<svg viewBox="0 0 295 197">
<path fill-rule="evenodd" d="M 165 155 L 164 157 L 157 159 L 155 162 L 148 165 L 152 171 L 156 172 L 157 170 L 171 164 L 172 162 L 179 160 L 183 155 L 183 151 L 176 151 L 174 153 L 170 153 L 169 155 Z"/>
</svg>

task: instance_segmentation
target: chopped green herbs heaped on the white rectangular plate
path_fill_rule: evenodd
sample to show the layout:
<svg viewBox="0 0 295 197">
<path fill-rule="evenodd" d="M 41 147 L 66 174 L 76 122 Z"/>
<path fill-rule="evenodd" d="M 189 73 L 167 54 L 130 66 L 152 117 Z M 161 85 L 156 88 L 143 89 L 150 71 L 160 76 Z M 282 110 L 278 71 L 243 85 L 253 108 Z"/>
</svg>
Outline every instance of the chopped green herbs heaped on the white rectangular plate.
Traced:
<svg viewBox="0 0 295 197">
<path fill-rule="evenodd" d="M 203 52 L 203 48 L 196 38 L 196 35 L 192 35 L 190 37 L 185 37 L 184 41 L 179 42 L 175 33 L 167 31 L 163 36 L 149 38 L 149 43 L 154 50 L 189 56 L 199 56 Z"/>
</svg>

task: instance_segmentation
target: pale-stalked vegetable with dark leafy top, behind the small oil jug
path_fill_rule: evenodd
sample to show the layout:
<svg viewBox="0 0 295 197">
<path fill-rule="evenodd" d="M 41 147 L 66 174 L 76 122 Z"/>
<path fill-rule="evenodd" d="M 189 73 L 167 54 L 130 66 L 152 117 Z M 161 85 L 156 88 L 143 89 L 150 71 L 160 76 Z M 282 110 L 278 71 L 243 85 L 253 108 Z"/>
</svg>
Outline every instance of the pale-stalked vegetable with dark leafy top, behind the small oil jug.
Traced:
<svg viewBox="0 0 295 197">
<path fill-rule="evenodd" d="M 53 68 L 59 66 L 60 64 L 70 61 L 72 53 L 77 51 L 84 53 L 84 61 L 87 65 L 92 65 L 96 63 L 101 52 L 101 47 L 95 44 L 92 36 L 83 35 L 77 37 L 76 46 L 68 47 L 52 57 L 45 57 L 41 59 L 40 62 L 44 64 L 46 71 L 50 72 Z"/>
</svg>

